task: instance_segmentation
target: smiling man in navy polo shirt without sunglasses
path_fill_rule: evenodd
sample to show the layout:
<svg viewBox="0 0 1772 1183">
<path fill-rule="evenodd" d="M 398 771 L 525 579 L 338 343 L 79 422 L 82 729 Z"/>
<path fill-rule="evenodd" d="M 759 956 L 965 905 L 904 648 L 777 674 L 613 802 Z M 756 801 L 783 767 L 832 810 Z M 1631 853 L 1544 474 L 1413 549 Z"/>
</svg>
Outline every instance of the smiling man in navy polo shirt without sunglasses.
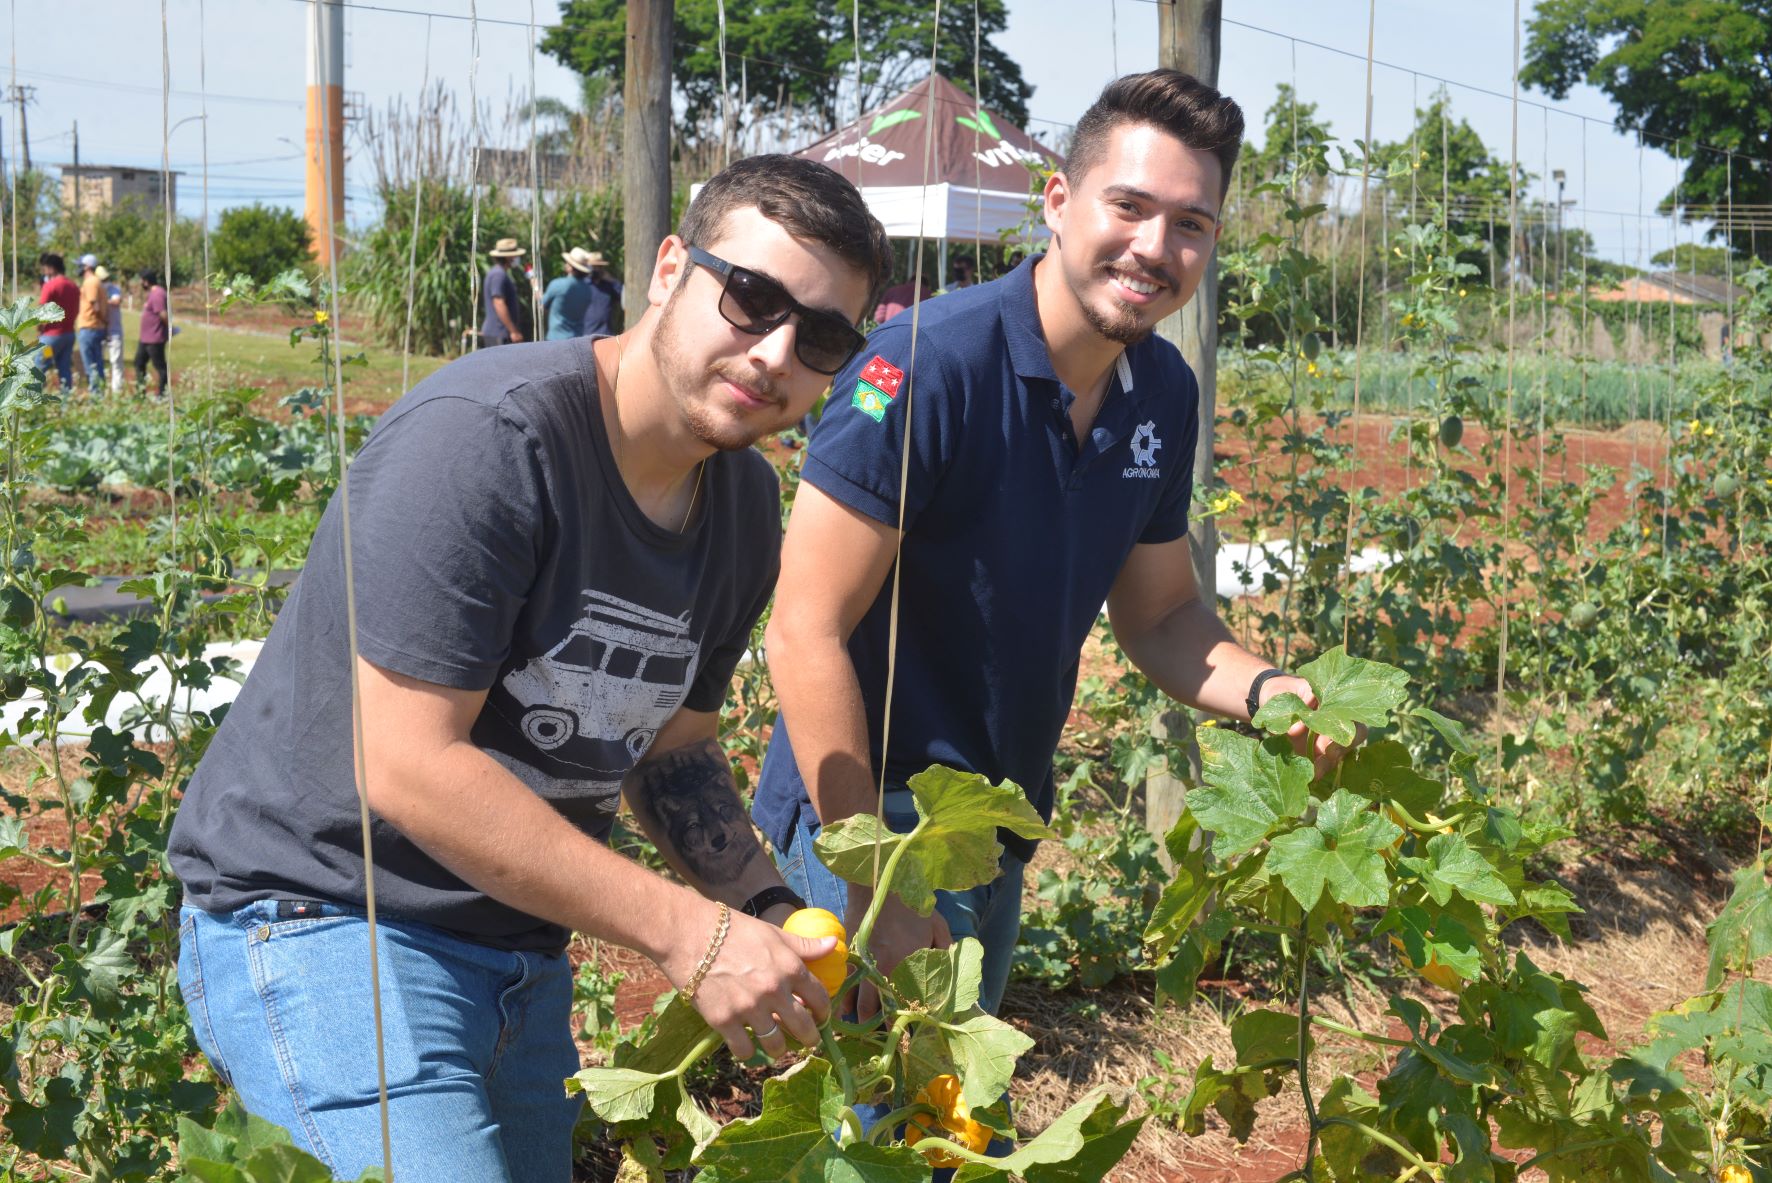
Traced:
<svg viewBox="0 0 1772 1183">
<path fill-rule="evenodd" d="M 1187 705 L 1249 719 L 1249 701 L 1281 691 L 1315 701 L 1304 680 L 1239 646 L 1198 590 L 1196 384 L 1152 336 L 1200 285 L 1240 140 L 1239 106 L 1187 74 L 1113 81 L 1045 186 L 1047 253 L 897 317 L 833 384 L 781 551 L 767 634 L 781 719 L 755 818 L 787 884 L 851 928 L 870 893 L 829 875 L 812 843 L 875 809 L 893 657 L 893 829 L 914 825 L 904 785 L 932 763 L 1010 779 L 1051 816 L 1053 753 L 1104 600 L 1125 653 Z M 1322 765 L 1341 754 L 1302 730 L 1294 740 Z M 1003 873 L 937 893 L 932 916 L 888 901 L 874 955 L 890 969 L 978 937 L 980 1001 L 994 1011 L 1031 854 L 1010 838 Z M 868 994 L 863 1015 L 877 1006 Z"/>
</svg>

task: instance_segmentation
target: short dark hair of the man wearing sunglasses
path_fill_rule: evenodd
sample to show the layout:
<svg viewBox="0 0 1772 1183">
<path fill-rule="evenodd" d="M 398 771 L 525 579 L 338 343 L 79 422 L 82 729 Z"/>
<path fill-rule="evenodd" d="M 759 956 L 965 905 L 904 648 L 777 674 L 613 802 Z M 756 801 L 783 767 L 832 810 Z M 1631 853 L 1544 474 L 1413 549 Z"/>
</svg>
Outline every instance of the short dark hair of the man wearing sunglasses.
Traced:
<svg viewBox="0 0 1772 1183">
<path fill-rule="evenodd" d="M 891 278 L 886 228 L 842 174 L 797 156 L 746 156 L 721 168 L 689 204 L 677 232 L 693 246 L 719 241 L 727 214 L 753 207 L 797 239 L 820 243 L 868 276 L 868 303 Z"/>
</svg>

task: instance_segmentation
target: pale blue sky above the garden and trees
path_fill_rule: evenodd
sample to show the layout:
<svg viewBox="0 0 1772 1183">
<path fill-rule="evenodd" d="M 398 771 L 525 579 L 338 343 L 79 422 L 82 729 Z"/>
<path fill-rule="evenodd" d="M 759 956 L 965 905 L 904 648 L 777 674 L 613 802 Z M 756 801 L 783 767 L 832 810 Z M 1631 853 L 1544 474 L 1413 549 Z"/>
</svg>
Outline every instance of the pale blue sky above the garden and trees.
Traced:
<svg viewBox="0 0 1772 1183">
<path fill-rule="evenodd" d="M 209 94 L 209 202 L 211 211 L 262 200 L 301 205 L 301 159 L 294 147 L 303 136 L 305 0 L 202 0 L 202 55 L 198 53 L 200 0 L 165 0 L 170 28 L 174 122 L 197 115 L 200 76 Z M 39 5 L 7 0 L 4 14 L 9 58 L 18 81 L 37 87 L 30 108 L 32 158 L 60 163 L 71 156 L 71 124 L 80 124 L 83 161 L 158 165 L 161 129 L 161 21 L 154 0 L 64 0 L 55 18 Z M 468 0 L 361 0 L 383 9 L 353 9 L 346 16 L 347 89 L 363 94 L 370 108 L 395 96 L 415 96 L 425 69 L 427 28 L 431 74 L 448 80 L 462 96 L 468 87 Z M 1035 85 L 1030 131 L 1042 120 L 1069 124 L 1095 92 L 1120 73 L 1157 64 L 1157 11 L 1150 0 L 1008 0 L 1008 30 L 999 44 L 1015 57 Z M 25 11 L 16 11 L 23 7 Z M 863 0 L 863 19 L 867 19 Z M 1529 4 L 1527 4 L 1529 9 Z M 411 11 L 438 16 L 425 19 Z M 535 0 L 535 19 L 551 21 L 553 0 Z M 478 89 L 503 106 L 505 96 L 528 87 L 530 0 L 480 0 Z M 1373 135 L 1407 135 L 1411 112 L 1439 85 L 1451 87 L 1453 112 L 1469 119 L 1490 149 L 1508 154 L 1513 57 L 1510 0 L 1379 0 L 1375 57 L 1402 69 L 1379 67 L 1373 78 Z M 516 21 L 496 25 L 489 19 Z M 1219 85 L 1235 96 L 1258 124 L 1279 83 L 1294 81 L 1306 101 L 1320 104 L 1333 129 L 1352 140 L 1361 131 L 1364 104 L 1366 4 L 1361 0 L 1230 0 L 1224 5 L 1224 53 Z M 58 32 L 66 30 L 66 32 Z M 1281 35 L 1285 34 L 1285 35 Z M 1297 39 L 1297 41 L 1292 41 Z M 1310 44 L 1317 43 L 1317 44 Z M 1318 48 L 1327 46 L 1327 48 Z M 1336 53 L 1340 50 L 1343 53 Z M 1414 71 L 1414 73 L 1412 73 Z M 537 89 L 571 97 L 572 76 L 537 55 Z M 11 78 L 7 76 L 7 81 Z M 1503 97 L 1480 94 L 1497 92 Z M 1522 96 L 1545 103 L 1540 94 Z M 1520 106 L 1520 161 L 1535 174 L 1563 168 L 1566 197 L 1575 202 L 1570 225 L 1586 225 L 1600 253 L 1636 260 L 1666 248 L 1673 228 L 1666 220 L 1637 218 L 1639 156 L 1634 138 L 1605 124 L 1611 104 L 1595 90 L 1577 90 L 1552 104 L 1556 112 Z M 1586 126 L 1586 184 L 1582 184 L 1582 120 Z M 5 151 L 14 152 L 12 112 L 5 117 Z M 179 205 L 200 205 L 204 122 L 181 126 L 172 138 L 172 163 L 181 179 Z M 1643 159 L 1643 202 L 1653 207 L 1676 175 L 1671 158 L 1648 151 Z M 353 204 L 370 197 L 369 177 L 347 174 Z M 1682 241 L 1690 230 L 1680 230 Z"/>
</svg>

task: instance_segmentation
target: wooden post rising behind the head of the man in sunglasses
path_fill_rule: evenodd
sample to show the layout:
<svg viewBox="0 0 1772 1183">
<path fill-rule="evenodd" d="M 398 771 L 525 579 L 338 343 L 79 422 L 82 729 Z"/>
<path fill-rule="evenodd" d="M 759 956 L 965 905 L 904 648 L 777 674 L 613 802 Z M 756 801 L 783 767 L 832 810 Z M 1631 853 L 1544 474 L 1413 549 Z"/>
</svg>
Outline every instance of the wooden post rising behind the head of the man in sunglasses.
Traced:
<svg viewBox="0 0 1772 1183">
<path fill-rule="evenodd" d="M 629 0 L 622 83 L 622 315 L 638 324 L 670 225 L 670 53 L 675 0 Z"/>
</svg>

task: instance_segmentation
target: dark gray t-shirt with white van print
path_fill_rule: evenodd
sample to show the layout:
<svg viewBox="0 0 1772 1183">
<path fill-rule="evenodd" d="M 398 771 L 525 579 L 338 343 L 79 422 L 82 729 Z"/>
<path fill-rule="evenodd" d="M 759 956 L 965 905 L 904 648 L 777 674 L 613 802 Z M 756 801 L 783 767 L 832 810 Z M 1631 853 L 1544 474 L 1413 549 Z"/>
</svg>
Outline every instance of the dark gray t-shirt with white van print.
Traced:
<svg viewBox="0 0 1772 1183">
<path fill-rule="evenodd" d="M 679 707 L 718 710 L 780 567 L 774 469 L 707 460 L 682 535 L 610 453 L 588 338 L 477 352 L 397 402 L 351 466 L 358 643 L 425 682 L 489 689 L 473 742 L 606 839 L 622 776 Z M 172 827 L 186 903 L 363 901 L 340 501 Z M 386 916 L 484 944 L 567 933 L 475 891 L 374 820 Z"/>
</svg>

